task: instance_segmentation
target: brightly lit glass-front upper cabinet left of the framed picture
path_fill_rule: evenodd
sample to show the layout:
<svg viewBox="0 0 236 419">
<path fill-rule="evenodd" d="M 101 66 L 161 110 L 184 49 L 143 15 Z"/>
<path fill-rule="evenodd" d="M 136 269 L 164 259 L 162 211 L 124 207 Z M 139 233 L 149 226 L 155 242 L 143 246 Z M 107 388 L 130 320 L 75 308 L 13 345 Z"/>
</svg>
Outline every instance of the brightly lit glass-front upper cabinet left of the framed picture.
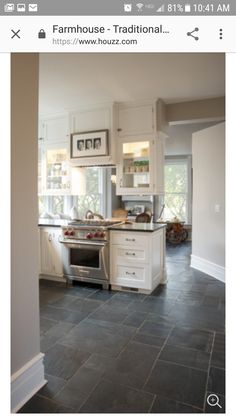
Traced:
<svg viewBox="0 0 236 419">
<path fill-rule="evenodd" d="M 70 193 L 70 163 L 67 144 L 45 145 L 41 163 L 41 193 L 64 195 Z"/>
</svg>

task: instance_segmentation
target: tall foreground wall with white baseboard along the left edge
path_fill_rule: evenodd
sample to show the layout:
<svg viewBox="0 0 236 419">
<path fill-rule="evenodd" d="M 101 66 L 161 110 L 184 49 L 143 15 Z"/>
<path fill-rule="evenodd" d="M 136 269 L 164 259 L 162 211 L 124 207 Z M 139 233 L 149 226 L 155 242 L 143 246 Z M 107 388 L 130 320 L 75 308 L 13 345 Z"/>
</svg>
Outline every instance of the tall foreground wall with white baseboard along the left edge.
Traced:
<svg viewBox="0 0 236 419">
<path fill-rule="evenodd" d="M 37 115 L 38 55 L 12 54 L 12 411 L 44 383 L 39 334 Z"/>
</svg>

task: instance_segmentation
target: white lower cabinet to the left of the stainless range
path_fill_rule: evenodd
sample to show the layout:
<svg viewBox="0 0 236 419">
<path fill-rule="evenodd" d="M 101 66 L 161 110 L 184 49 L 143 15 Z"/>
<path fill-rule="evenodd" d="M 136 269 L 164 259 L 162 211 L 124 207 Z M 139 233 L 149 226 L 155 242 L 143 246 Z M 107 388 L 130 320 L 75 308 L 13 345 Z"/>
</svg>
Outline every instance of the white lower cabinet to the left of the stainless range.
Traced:
<svg viewBox="0 0 236 419">
<path fill-rule="evenodd" d="M 60 238 L 60 228 L 40 228 L 40 278 L 63 280 Z"/>
</svg>

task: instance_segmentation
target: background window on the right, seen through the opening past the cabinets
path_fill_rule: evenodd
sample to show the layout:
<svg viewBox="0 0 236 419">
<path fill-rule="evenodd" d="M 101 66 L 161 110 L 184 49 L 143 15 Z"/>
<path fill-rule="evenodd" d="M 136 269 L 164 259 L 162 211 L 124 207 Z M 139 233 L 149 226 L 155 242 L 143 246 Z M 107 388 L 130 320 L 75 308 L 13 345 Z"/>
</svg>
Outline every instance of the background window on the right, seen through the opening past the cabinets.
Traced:
<svg viewBox="0 0 236 419">
<path fill-rule="evenodd" d="M 191 158 L 168 157 L 165 162 L 164 219 L 191 222 Z"/>
</svg>

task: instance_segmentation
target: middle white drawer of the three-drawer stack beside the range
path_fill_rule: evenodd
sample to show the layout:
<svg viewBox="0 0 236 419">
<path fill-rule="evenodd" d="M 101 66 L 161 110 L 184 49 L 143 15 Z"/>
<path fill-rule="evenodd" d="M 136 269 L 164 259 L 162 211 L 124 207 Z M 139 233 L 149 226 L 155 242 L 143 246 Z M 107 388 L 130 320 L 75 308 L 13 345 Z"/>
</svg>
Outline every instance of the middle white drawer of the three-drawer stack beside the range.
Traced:
<svg viewBox="0 0 236 419">
<path fill-rule="evenodd" d="M 145 249 L 136 249 L 131 247 L 120 247 L 119 245 L 112 246 L 112 253 L 114 255 L 115 263 L 147 263 L 150 258 L 148 247 Z"/>
</svg>

